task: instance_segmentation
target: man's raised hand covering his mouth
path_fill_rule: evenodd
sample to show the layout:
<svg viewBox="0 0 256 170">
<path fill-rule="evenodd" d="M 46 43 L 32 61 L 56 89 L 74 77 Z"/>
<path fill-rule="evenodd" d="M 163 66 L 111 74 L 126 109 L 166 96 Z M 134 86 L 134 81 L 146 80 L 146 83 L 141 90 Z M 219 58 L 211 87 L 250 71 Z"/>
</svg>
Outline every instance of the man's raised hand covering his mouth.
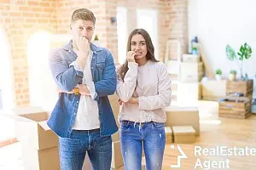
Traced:
<svg viewBox="0 0 256 170">
<path fill-rule="evenodd" d="M 77 64 L 84 69 L 84 65 L 86 64 L 86 60 L 90 53 L 90 42 L 86 39 L 86 37 L 79 36 L 77 38 L 77 47 L 79 51 L 77 52 Z"/>
</svg>

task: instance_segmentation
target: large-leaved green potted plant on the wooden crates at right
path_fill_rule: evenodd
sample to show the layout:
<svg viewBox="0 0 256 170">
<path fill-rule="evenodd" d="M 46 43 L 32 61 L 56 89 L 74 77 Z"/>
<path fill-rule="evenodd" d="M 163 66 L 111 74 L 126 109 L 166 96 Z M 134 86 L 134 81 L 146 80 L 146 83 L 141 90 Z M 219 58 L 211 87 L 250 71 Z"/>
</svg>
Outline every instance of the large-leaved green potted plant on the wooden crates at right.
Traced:
<svg viewBox="0 0 256 170">
<path fill-rule="evenodd" d="M 245 59 L 249 59 L 253 53 L 252 48 L 245 42 L 243 45 L 241 45 L 239 52 L 237 52 L 238 57 L 236 57 L 236 52 L 233 48 L 230 47 L 230 45 L 226 46 L 226 56 L 228 59 L 235 60 L 240 68 L 241 73 L 241 79 L 246 80 L 247 79 L 247 73 L 243 72 L 243 62 Z M 245 75 L 245 76 L 244 76 Z"/>
</svg>

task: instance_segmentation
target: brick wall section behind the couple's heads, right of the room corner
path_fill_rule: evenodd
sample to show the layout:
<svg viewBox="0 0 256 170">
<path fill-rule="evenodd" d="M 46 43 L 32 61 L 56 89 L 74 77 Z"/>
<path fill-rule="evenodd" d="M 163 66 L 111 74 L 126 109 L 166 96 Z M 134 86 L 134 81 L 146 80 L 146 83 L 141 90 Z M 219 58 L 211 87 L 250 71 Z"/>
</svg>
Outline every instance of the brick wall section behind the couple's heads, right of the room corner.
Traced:
<svg viewBox="0 0 256 170">
<path fill-rule="evenodd" d="M 179 37 L 182 41 L 182 51 L 185 52 L 188 23 L 187 23 L 187 0 L 112 0 L 112 1 L 76 1 L 68 0 L 57 1 L 58 32 L 66 34 L 69 32 L 70 15 L 73 10 L 79 7 L 90 8 L 96 15 L 95 33 L 101 39 L 102 45 L 107 47 L 115 61 L 117 56 L 117 30 L 116 25 L 111 24 L 110 18 L 116 16 L 116 8 L 125 7 L 128 12 L 128 32 L 137 28 L 136 9 L 146 8 L 158 11 L 158 33 L 159 33 L 159 52 L 160 60 L 164 60 L 166 53 L 166 41 L 173 37 Z M 89 5 L 88 5 L 89 4 Z"/>
</svg>

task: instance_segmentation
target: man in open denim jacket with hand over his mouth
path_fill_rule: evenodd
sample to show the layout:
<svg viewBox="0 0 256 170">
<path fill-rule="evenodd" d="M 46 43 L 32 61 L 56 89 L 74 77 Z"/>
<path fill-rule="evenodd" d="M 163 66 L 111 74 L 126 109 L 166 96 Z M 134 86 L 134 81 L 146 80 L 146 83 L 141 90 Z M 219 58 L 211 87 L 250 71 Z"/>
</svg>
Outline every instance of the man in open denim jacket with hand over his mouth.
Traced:
<svg viewBox="0 0 256 170">
<path fill-rule="evenodd" d="M 111 167 L 111 134 L 118 127 L 108 95 L 115 92 L 116 73 L 112 54 L 90 42 L 95 24 L 90 10 L 75 10 L 73 39 L 50 54 L 50 70 L 62 93 L 48 125 L 59 136 L 61 170 L 81 170 L 86 153 L 93 169 Z"/>
</svg>

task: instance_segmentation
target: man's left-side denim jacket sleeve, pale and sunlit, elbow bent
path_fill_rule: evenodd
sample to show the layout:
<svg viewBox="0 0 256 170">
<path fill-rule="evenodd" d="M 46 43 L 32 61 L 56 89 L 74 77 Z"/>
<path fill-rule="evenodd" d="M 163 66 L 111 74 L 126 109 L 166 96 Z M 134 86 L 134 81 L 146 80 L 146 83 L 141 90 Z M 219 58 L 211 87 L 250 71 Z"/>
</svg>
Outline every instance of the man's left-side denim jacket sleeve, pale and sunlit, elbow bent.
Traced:
<svg viewBox="0 0 256 170">
<path fill-rule="evenodd" d="M 76 71 L 73 66 L 65 63 L 65 54 L 61 49 L 49 54 L 49 69 L 58 87 L 67 92 L 71 91 L 83 79 L 83 72 Z"/>
</svg>

